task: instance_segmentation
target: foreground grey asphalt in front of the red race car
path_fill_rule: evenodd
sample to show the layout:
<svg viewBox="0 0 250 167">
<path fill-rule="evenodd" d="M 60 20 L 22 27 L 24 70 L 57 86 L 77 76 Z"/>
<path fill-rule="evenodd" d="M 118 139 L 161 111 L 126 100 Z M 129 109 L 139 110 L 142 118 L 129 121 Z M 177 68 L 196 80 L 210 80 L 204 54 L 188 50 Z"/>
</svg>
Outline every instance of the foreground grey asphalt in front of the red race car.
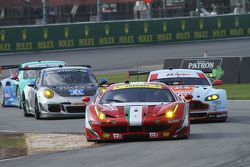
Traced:
<svg viewBox="0 0 250 167">
<path fill-rule="evenodd" d="M 104 143 L 93 148 L 0 161 L 0 166 L 248 167 L 250 103 L 230 103 L 227 122 L 191 124 L 187 140 Z"/>
</svg>

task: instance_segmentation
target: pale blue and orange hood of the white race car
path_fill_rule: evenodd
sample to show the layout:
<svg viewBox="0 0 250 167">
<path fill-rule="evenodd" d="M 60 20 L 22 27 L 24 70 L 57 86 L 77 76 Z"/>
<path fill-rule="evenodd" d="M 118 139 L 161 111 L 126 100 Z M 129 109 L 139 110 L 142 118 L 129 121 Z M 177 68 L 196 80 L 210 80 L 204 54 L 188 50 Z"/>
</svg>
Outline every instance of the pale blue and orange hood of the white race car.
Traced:
<svg viewBox="0 0 250 167">
<path fill-rule="evenodd" d="M 203 100 L 213 92 L 214 88 L 207 85 L 170 86 L 177 95 L 191 94 L 193 100 Z"/>
</svg>

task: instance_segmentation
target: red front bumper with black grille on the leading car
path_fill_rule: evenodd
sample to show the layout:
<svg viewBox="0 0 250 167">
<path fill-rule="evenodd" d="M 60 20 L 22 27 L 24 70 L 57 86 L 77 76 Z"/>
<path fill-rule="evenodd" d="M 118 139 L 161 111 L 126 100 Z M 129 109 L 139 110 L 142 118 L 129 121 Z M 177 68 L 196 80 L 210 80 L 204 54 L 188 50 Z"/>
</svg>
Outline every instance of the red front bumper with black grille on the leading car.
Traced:
<svg viewBox="0 0 250 167">
<path fill-rule="evenodd" d="M 114 121 L 109 121 L 111 124 Z M 98 125 L 99 124 L 99 125 Z M 108 141 L 126 139 L 171 139 L 186 138 L 190 133 L 190 125 L 182 127 L 182 121 L 164 124 L 147 124 L 142 126 L 129 126 L 127 123 L 117 125 L 103 125 L 101 123 L 91 123 L 91 128 L 86 128 L 86 138 L 88 141 Z"/>
</svg>

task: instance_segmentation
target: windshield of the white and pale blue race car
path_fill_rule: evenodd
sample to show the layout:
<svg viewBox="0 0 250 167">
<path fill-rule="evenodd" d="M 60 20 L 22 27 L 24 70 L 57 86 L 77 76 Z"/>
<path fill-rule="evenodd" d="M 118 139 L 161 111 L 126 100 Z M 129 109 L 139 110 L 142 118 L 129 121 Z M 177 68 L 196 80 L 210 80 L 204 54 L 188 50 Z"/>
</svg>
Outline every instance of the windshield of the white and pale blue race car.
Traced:
<svg viewBox="0 0 250 167">
<path fill-rule="evenodd" d="M 163 82 L 166 85 L 174 85 L 176 83 L 181 83 L 182 85 L 207 85 L 210 86 L 207 78 L 162 78 L 152 80 L 154 82 Z"/>
</svg>

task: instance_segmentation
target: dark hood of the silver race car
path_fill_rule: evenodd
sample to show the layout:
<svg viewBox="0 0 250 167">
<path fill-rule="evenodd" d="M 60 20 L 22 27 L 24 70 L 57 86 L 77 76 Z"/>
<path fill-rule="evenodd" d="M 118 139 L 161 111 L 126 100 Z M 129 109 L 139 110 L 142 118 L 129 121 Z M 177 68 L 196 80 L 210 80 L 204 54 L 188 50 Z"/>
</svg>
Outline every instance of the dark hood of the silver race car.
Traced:
<svg viewBox="0 0 250 167">
<path fill-rule="evenodd" d="M 81 85 L 54 85 L 49 86 L 51 90 L 63 97 L 75 97 L 75 96 L 93 96 L 98 89 L 97 85 L 93 84 L 81 84 Z"/>
</svg>

